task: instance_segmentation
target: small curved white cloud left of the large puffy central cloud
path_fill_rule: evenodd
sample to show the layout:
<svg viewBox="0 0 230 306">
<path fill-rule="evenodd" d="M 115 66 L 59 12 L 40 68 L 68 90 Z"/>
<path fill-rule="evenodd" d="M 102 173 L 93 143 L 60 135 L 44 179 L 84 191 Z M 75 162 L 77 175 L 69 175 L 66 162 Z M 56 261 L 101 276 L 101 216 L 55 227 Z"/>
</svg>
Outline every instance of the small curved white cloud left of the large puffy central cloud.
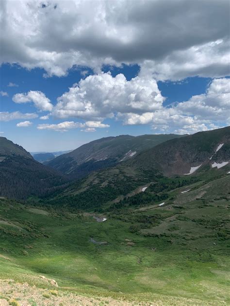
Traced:
<svg viewBox="0 0 230 306">
<path fill-rule="evenodd" d="M 28 93 L 16 93 L 13 96 L 15 103 L 33 102 L 35 107 L 44 111 L 51 111 L 53 105 L 43 92 L 29 91 Z"/>
</svg>

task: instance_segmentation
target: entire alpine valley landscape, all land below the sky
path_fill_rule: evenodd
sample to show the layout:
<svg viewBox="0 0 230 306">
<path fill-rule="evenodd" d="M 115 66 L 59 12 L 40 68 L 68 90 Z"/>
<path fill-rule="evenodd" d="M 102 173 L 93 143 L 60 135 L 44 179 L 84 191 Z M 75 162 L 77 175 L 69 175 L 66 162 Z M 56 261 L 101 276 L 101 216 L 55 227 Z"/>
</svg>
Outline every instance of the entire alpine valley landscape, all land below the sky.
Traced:
<svg viewBox="0 0 230 306">
<path fill-rule="evenodd" d="M 230 127 L 34 158 L 0 137 L 0 303 L 230 304 Z"/>
</svg>

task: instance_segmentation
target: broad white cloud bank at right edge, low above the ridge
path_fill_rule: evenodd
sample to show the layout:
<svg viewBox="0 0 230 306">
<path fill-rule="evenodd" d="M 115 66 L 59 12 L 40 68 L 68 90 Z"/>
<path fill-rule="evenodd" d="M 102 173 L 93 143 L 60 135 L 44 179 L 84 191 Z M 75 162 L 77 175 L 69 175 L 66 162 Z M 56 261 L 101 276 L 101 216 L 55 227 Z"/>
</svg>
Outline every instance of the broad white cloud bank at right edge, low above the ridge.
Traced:
<svg viewBox="0 0 230 306">
<path fill-rule="evenodd" d="M 192 134 L 230 124 L 230 79 L 214 79 L 207 92 L 154 112 L 118 113 L 124 124 L 152 124 L 163 133 Z"/>
</svg>

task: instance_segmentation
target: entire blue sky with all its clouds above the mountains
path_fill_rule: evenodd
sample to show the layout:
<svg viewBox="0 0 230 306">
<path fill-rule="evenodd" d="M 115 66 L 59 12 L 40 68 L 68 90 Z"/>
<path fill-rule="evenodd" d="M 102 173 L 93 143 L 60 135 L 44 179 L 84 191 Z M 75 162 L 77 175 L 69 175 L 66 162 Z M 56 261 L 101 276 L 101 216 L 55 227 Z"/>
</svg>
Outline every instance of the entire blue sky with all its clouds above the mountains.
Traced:
<svg viewBox="0 0 230 306">
<path fill-rule="evenodd" d="M 29 152 L 230 125 L 229 0 L 1 0 L 0 12 L 0 136 Z"/>
</svg>

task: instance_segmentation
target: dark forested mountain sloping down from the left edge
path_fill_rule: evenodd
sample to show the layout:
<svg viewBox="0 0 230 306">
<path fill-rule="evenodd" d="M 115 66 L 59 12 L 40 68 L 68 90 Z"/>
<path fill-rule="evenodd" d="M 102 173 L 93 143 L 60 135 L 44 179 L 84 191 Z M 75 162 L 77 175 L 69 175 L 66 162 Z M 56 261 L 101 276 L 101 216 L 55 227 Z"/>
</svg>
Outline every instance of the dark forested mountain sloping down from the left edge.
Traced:
<svg viewBox="0 0 230 306">
<path fill-rule="evenodd" d="M 0 137 L 0 173 L 0 196 L 14 199 L 45 195 L 67 182 L 63 174 L 4 137 Z"/>
</svg>

